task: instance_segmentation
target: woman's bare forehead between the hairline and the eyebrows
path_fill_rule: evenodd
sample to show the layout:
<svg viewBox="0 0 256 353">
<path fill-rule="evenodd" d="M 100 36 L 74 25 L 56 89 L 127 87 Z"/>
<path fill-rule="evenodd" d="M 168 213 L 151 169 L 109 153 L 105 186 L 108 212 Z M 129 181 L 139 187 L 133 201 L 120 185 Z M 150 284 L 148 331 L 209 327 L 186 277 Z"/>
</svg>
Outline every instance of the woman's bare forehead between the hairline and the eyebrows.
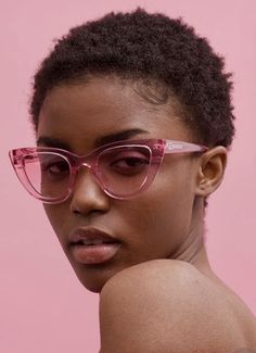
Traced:
<svg viewBox="0 0 256 353">
<path fill-rule="evenodd" d="M 187 139 L 190 130 L 175 114 L 171 103 L 154 105 L 131 84 L 114 78 L 54 87 L 39 114 L 41 135 L 84 149 L 99 137 L 125 129 L 143 129 L 145 138 Z M 141 138 L 142 136 L 138 136 Z"/>
</svg>

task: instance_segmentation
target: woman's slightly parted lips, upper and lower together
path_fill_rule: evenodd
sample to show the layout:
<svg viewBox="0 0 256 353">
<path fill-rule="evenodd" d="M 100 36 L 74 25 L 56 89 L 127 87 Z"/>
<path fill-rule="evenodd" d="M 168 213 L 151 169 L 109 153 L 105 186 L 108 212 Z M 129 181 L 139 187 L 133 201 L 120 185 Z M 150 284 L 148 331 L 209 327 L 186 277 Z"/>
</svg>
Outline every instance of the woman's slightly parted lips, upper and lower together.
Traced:
<svg viewBox="0 0 256 353">
<path fill-rule="evenodd" d="M 111 260 L 120 241 L 97 228 L 76 228 L 69 235 L 72 254 L 82 264 L 100 264 Z"/>
</svg>

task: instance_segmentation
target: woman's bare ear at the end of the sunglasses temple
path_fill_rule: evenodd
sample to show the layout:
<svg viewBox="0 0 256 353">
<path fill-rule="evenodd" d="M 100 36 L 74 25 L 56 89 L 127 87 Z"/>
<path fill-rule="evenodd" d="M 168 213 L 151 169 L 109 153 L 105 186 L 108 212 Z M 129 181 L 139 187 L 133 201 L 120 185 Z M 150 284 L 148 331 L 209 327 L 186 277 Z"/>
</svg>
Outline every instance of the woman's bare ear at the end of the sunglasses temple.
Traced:
<svg viewBox="0 0 256 353">
<path fill-rule="evenodd" d="M 208 197 L 222 181 L 227 164 L 227 149 L 217 146 L 202 155 L 195 194 Z"/>
</svg>

